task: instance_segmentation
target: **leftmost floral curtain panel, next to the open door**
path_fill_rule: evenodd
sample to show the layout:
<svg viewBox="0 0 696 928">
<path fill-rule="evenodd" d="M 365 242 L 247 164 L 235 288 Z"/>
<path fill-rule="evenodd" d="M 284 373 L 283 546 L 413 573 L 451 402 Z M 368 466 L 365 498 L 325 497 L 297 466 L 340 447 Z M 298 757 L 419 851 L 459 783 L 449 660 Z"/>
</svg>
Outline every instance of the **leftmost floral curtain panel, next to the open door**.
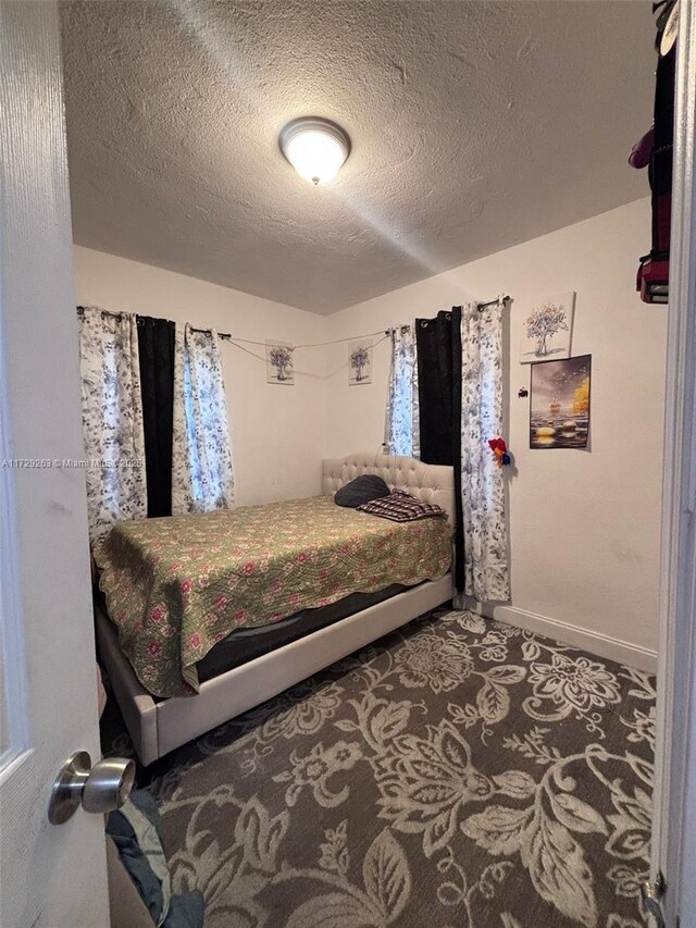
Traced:
<svg viewBox="0 0 696 928">
<path fill-rule="evenodd" d="M 79 367 L 89 539 L 147 516 L 145 438 L 135 315 L 80 307 Z"/>
</svg>

